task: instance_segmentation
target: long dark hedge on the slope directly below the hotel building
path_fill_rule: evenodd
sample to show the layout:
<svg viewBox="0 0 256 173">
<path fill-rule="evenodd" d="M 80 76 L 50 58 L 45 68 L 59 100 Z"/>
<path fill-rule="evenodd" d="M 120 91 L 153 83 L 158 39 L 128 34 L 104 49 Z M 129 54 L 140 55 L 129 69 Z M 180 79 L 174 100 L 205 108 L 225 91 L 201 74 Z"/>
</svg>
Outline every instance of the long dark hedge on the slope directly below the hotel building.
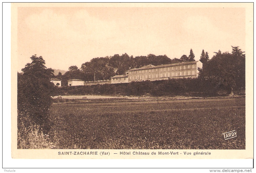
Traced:
<svg viewBox="0 0 256 173">
<path fill-rule="evenodd" d="M 226 89 L 221 86 L 218 86 L 218 88 L 216 89 L 216 85 L 206 86 L 202 84 L 202 81 L 200 81 L 199 79 L 182 78 L 160 81 L 62 87 L 56 88 L 54 92 L 51 93 L 51 95 L 142 96 L 145 94 L 150 94 L 152 96 L 215 96 L 228 94 Z M 214 92 L 212 90 L 213 88 Z"/>
</svg>

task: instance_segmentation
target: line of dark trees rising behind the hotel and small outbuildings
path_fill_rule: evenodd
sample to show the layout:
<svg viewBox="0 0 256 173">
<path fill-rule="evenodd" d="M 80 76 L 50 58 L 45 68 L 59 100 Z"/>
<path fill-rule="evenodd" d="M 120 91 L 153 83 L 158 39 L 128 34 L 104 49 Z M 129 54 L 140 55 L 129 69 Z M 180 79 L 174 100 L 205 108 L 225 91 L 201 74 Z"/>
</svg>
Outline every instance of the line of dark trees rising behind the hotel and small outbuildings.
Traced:
<svg viewBox="0 0 256 173">
<path fill-rule="evenodd" d="M 149 54 L 147 56 L 133 57 L 127 55 L 127 53 L 121 56 L 116 54 L 110 57 L 93 58 L 89 62 L 83 63 L 80 69 L 77 66 L 70 66 L 69 71 L 65 74 L 59 72 L 55 78 L 62 81 L 62 86 L 67 86 L 67 81 L 70 79 L 81 79 L 84 81 L 94 81 L 94 78 L 95 80 L 109 80 L 114 75 L 122 75 L 127 70 L 140 68 L 148 64 L 157 66 L 188 61 L 195 61 L 192 49 L 190 49 L 188 57 L 183 55 L 180 59 L 170 59 L 166 55 L 156 56 Z"/>
</svg>

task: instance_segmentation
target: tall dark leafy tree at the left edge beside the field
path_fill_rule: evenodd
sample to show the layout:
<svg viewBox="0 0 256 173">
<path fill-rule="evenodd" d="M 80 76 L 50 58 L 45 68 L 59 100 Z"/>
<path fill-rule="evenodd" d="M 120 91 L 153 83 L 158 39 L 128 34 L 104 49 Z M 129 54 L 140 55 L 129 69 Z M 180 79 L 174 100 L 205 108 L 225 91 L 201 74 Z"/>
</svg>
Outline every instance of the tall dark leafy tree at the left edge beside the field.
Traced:
<svg viewBox="0 0 256 173">
<path fill-rule="evenodd" d="M 45 67 L 45 60 L 41 56 L 33 55 L 30 59 L 32 62 L 26 64 L 22 69 L 23 73 L 18 73 L 18 130 L 40 125 L 43 131 L 47 131 L 50 127 L 50 93 L 54 89 L 50 79 L 54 77 L 54 71 Z"/>
</svg>

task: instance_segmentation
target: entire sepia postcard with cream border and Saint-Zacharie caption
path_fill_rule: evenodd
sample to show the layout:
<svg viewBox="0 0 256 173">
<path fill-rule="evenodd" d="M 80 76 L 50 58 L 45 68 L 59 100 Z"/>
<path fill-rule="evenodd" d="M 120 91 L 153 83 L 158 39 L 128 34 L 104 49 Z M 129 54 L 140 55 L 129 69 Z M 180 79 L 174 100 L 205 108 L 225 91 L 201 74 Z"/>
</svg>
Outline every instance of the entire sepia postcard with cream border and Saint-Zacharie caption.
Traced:
<svg viewBox="0 0 256 173">
<path fill-rule="evenodd" d="M 253 158 L 253 3 L 12 3 L 11 20 L 13 158 Z"/>
</svg>

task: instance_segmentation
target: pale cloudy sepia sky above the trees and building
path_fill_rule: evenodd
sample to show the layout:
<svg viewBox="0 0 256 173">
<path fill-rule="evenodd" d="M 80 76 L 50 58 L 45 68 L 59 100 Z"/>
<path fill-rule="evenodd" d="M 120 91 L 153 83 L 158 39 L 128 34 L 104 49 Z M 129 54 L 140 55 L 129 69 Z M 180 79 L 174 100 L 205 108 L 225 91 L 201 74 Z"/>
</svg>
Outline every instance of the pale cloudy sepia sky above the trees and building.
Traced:
<svg viewBox="0 0 256 173">
<path fill-rule="evenodd" d="M 245 8 L 18 7 L 18 71 L 34 54 L 68 70 L 92 58 L 245 50 Z"/>
</svg>

